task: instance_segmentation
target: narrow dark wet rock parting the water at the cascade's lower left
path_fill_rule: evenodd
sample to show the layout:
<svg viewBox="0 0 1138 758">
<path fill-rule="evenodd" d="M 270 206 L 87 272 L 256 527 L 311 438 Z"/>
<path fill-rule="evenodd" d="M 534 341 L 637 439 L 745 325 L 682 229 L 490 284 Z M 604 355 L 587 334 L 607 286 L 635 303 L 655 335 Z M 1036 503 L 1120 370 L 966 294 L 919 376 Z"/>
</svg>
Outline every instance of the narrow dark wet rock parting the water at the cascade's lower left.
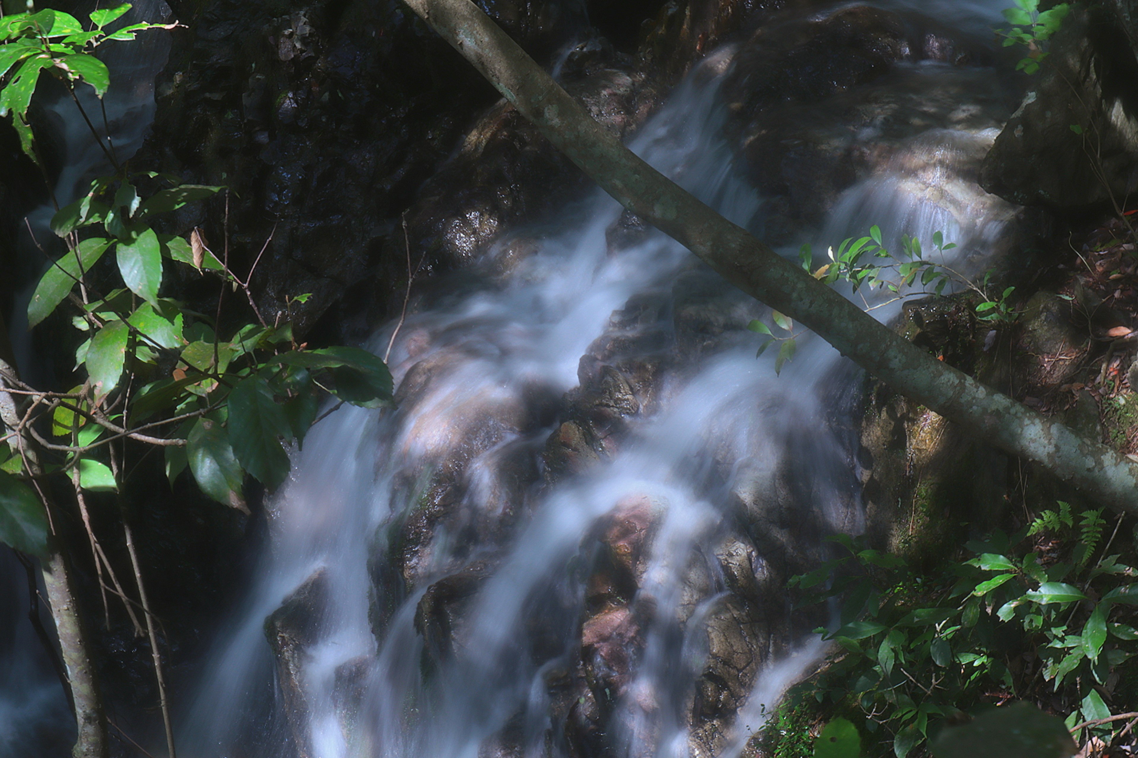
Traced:
<svg viewBox="0 0 1138 758">
<path fill-rule="evenodd" d="M 328 592 L 328 575 L 321 568 L 265 619 L 265 636 L 269 638 L 269 647 L 277 659 L 277 683 L 302 758 L 313 755 L 304 683 L 306 649 L 320 636 Z"/>
</svg>

